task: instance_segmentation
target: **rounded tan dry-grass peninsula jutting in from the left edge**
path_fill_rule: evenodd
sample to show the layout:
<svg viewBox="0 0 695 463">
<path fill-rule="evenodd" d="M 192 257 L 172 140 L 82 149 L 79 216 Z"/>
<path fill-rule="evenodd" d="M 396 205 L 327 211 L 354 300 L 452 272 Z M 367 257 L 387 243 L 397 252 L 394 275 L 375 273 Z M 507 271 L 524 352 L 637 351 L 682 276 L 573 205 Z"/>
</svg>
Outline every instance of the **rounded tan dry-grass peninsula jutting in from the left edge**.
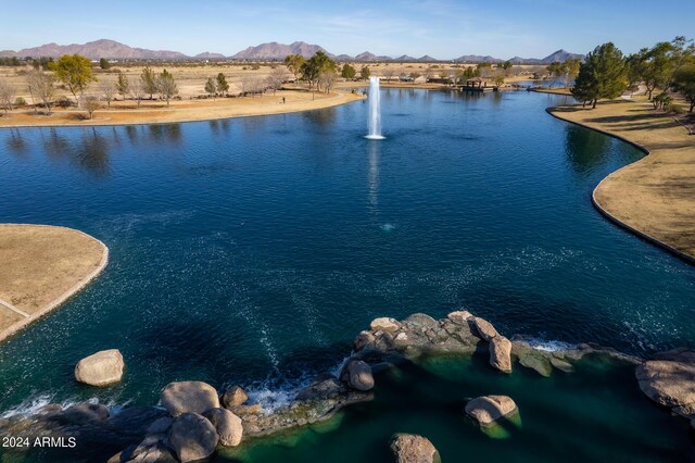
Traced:
<svg viewBox="0 0 695 463">
<path fill-rule="evenodd" d="M 0 341 L 53 311 L 104 270 L 109 248 L 72 228 L 0 224 Z"/>
</svg>

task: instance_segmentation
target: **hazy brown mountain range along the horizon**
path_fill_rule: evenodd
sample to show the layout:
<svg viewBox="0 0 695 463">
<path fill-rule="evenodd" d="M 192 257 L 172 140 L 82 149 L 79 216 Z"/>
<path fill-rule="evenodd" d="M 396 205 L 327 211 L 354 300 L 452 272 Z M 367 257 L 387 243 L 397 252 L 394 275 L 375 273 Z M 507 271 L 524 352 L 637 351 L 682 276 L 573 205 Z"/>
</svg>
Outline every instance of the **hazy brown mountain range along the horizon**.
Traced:
<svg viewBox="0 0 695 463">
<path fill-rule="evenodd" d="M 339 54 L 334 55 L 328 52 L 324 47 L 318 45 L 306 43 L 303 41 L 295 41 L 290 45 L 278 43 L 278 42 L 268 42 L 261 43 L 255 47 L 249 47 L 245 50 L 242 50 L 231 57 L 225 57 L 222 53 L 213 53 L 213 52 L 204 52 L 199 53 L 194 57 L 190 57 L 178 51 L 170 50 L 148 50 L 144 48 L 132 48 L 127 45 L 109 40 L 101 39 L 94 40 L 87 43 L 72 43 L 72 45 L 58 45 L 58 43 L 47 43 L 40 47 L 34 48 L 25 48 L 18 51 L 12 50 L 3 50 L 0 51 L 0 57 L 2 58 L 11 58 L 11 57 L 61 57 L 63 54 L 74 54 L 78 53 L 83 57 L 87 57 L 91 60 L 98 60 L 100 58 L 106 59 L 122 59 L 122 60 L 187 60 L 187 59 L 197 59 L 197 60 L 282 60 L 288 54 L 301 54 L 304 58 L 309 58 L 314 55 L 317 51 L 323 51 L 328 54 L 330 58 L 339 60 L 339 61 L 420 61 L 420 62 L 435 62 L 437 60 L 428 54 L 420 58 L 413 58 L 407 54 L 403 54 L 397 58 L 391 58 L 386 55 L 377 55 L 369 51 L 365 51 L 363 53 L 357 54 L 356 57 L 350 57 L 348 54 Z M 545 58 L 519 58 L 514 57 L 509 61 L 515 64 L 519 63 L 528 63 L 528 64 L 549 64 L 554 61 L 566 61 L 570 58 L 580 58 L 583 59 L 583 54 L 570 53 L 565 50 L 557 50 L 556 52 L 548 54 Z M 446 60 L 450 61 L 450 60 Z M 504 60 L 494 58 L 494 57 L 482 57 L 478 54 L 464 54 L 454 59 L 455 62 L 466 62 L 466 63 L 480 63 L 483 61 L 490 63 L 498 63 Z"/>
</svg>

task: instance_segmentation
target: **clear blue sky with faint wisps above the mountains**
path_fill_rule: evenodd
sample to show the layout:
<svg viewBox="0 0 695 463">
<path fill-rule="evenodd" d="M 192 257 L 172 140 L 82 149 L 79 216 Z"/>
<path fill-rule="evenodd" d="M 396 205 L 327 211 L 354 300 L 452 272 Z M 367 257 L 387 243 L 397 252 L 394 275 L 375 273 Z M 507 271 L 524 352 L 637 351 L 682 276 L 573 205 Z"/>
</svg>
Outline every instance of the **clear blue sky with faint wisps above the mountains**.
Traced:
<svg viewBox="0 0 695 463">
<path fill-rule="evenodd" d="M 2 0 L 2 16 L 0 50 L 110 38 L 226 55 L 303 40 L 336 54 L 543 58 L 609 40 L 630 53 L 695 33 L 693 0 Z"/>
</svg>

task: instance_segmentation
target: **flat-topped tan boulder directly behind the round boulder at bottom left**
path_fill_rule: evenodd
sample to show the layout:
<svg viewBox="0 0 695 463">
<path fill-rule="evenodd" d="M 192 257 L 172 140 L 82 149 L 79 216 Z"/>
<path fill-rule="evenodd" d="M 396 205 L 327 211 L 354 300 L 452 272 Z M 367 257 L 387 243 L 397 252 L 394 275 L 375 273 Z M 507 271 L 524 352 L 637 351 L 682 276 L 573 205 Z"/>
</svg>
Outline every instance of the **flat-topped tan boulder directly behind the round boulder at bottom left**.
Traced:
<svg viewBox="0 0 695 463">
<path fill-rule="evenodd" d="M 162 390 L 160 400 L 172 416 L 187 412 L 202 415 L 219 408 L 217 391 L 203 381 L 169 383 Z"/>
</svg>

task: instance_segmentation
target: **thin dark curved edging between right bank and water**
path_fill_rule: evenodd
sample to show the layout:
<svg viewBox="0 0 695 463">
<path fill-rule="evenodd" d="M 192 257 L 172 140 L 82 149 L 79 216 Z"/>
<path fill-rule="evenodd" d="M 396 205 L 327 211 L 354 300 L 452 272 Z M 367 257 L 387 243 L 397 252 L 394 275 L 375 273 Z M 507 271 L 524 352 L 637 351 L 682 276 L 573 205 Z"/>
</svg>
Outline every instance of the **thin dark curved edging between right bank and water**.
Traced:
<svg viewBox="0 0 695 463">
<path fill-rule="evenodd" d="M 607 136 L 609 136 L 611 138 L 616 138 L 616 139 L 618 139 L 618 140 L 620 140 L 622 142 L 626 142 L 626 143 L 639 149 L 640 151 L 642 151 L 642 152 L 644 152 L 646 154 L 644 158 L 642 158 L 642 159 L 640 159 L 640 160 L 637 160 L 635 162 L 632 162 L 632 163 L 630 163 L 628 165 L 624 165 L 624 166 L 618 168 L 617 171 L 611 172 L 603 180 L 601 180 L 598 183 L 598 185 L 596 185 L 596 187 L 593 189 L 593 191 L 591 193 L 591 202 L 594 205 L 594 208 L 603 216 L 608 218 L 608 221 L 614 223 L 615 225 L 628 230 L 629 233 L 637 236 L 641 239 L 644 239 L 645 241 L 647 241 L 647 242 L 649 242 L 652 245 L 656 245 L 657 247 L 666 250 L 667 252 L 669 252 L 672 255 L 683 260 L 684 262 L 686 262 L 686 263 L 688 263 L 691 265 L 695 265 L 695 255 L 687 254 L 687 253 L 685 253 L 685 252 L 672 247 L 671 245 L 669 245 L 669 243 L 667 243 L 665 241 L 661 241 L 658 238 L 655 238 L 655 237 L 648 235 L 645 232 L 642 232 L 642 230 L 640 230 L 640 229 L 637 229 L 637 228 L 635 228 L 635 227 L 633 227 L 631 225 L 628 225 L 626 222 L 623 222 L 620 218 L 616 217 L 607 209 L 605 209 L 603 205 L 601 205 L 601 203 L 596 199 L 596 191 L 598 190 L 598 188 L 602 185 L 604 185 L 605 182 L 609 180 L 614 174 L 617 174 L 617 173 L 619 173 L 619 172 L 621 172 L 621 171 L 623 171 L 623 170 L 626 170 L 628 167 L 632 167 L 632 166 L 634 166 L 634 165 L 636 165 L 639 163 L 645 162 L 645 160 L 647 160 L 647 157 L 649 157 L 652 154 L 652 152 L 647 148 L 643 147 L 642 145 L 639 145 L 637 142 L 632 141 L 632 140 L 630 140 L 630 139 L 621 136 L 621 135 L 614 134 L 611 132 L 604 130 L 604 129 L 598 128 L 598 127 L 592 127 L 592 126 L 590 126 L 587 124 L 584 124 L 584 123 L 581 123 L 581 122 L 578 122 L 578 121 L 572 121 L 572 120 L 563 117 L 561 115 L 559 115 L 557 113 L 557 109 L 558 109 L 558 107 L 546 108 L 545 112 L 548 113 L 549 115 L 552 115 L 553 117 L 556 117 L 556 118 L 558 118 L 560 121 L 564 121 L 564 122 L 567 122 L 567 123 L 570 123 L 570 124 L 574 124 L 574 125 L 578 125 L 580 127 L 584 127 L 584 128 L 597 132 L 597 133 L 603 134 L 603 135 L 607 135 Z"/>
</svg>

